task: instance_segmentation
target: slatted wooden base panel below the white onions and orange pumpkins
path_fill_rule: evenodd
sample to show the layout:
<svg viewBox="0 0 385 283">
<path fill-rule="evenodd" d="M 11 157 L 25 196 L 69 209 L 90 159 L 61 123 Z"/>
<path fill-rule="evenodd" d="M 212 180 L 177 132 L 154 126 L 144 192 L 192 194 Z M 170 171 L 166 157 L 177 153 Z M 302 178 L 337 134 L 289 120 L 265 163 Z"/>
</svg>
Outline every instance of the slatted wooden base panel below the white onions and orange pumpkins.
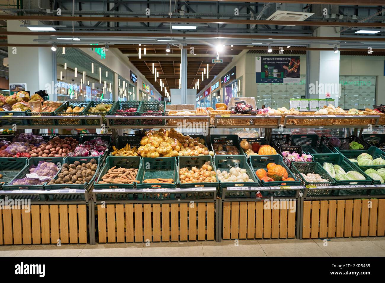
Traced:
<svg viewBox="0 0 385 283">
<path fill-rule="evenodd" d="M 294 238 L 296 201 L 223 202 L 223 239 Z"/>
</svg>

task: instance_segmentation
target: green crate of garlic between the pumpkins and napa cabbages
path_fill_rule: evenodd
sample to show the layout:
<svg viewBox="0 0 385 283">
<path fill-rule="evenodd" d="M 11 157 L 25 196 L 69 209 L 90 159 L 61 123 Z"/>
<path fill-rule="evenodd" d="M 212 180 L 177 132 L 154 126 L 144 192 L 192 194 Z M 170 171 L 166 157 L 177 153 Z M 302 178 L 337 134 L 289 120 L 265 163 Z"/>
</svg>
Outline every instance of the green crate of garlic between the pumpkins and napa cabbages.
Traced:
<svg viewBox="0 0 385 283">
<path fill-rule="evenodd" d="M 291 171 L 295 178 L 301 181 L 303 186 L 335 186 L 334 179 L 318 162 L 293 162 Z M 305 175 L 308 173 L 319 174 L 323 179 L 326 179 L 327 182 L 308 182 L 302 177 L 301 173 Z M 333 195 L 333 193 L 334 190 L 331 189 L 316 188 L 312 189 L 311 192 L 308 193 L 308 196 L 330 196 Z"/>
</svg>

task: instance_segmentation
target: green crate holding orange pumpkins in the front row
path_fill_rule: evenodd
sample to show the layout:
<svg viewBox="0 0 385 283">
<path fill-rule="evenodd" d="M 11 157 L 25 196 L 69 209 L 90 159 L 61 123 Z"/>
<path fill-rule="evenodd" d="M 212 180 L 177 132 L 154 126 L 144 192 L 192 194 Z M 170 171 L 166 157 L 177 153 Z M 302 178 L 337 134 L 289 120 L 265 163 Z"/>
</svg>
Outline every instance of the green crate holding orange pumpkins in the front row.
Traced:
<svg viewBox="0 0 385 283">
<path fill-rule="evenodd" d="M 271 187 L 271 186 L 300 186 L 301 182 L 296 180 L 296 181 L 274 181 L 274 182 L 265 182 L 261 181 L 255 171 L 258 169 L 264 169 L 266 172 L 268 171 L 266 166 L 269 163 L 275 163 L 277 165 L 283 166 L 286 171 L 288 172 L 288 178 L 293 178 L 296 179 L 295 176 L 291 173 L 289 168 L 283 163 L 282 156 L 275 154 L 275 155 L 251 155 L 249 157 L 249 161 L 251 164 L 251 168 L 253 169 L 253 173 L 255 178 L 258 179 L 258 181 L 262 184 L 264 187 Z"/>
</svg>

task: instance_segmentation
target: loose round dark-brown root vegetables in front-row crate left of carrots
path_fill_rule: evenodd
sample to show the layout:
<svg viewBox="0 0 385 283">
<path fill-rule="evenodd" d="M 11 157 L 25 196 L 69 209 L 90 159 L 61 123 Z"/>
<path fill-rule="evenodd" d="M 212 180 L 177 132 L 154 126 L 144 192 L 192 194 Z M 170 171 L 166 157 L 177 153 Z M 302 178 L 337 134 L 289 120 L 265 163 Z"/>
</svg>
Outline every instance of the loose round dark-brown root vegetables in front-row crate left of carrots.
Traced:
<svg viewBox="0 0 385 283">
<path fill-rule="evenodd" d="M 91 181 L 96 169 L 95 158 L 92 158 L 88 163 L 81 163 L 80 161 L 75 161 L 74 164 L 65 163 L 57 175 L 57 179 L 53 179 L 48 184 L 86 184 Z"/>
</svg>

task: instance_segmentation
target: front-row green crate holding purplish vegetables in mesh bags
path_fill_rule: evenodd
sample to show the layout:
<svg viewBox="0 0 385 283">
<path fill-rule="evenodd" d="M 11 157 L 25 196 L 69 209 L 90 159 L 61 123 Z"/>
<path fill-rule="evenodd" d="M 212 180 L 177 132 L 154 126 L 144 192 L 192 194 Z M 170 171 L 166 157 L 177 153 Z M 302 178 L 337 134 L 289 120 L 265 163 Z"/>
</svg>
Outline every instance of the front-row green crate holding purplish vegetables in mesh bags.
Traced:
<svg viewBox="0 0 385 283">
<path fill-rule="evenodd" d="M 28 159 L 27 164 L 21 169 L 18 174 L 11 180 L 11 182 L 15 179 L 23 179 L 26 176 L 26 174 L 30 174 L 29 169 L 31 166 L 37 166 L 39 162 L 50 162 L 54 163 L 55 165 L 63 164 L 63 157 L 31 157 Z M 54 178 L 56 177 L 57 173 L 55 174 Z M 11 183 L 9 182 L 9 183 Z M 45 184 L 48 182 L 45 182 L 42 185 L 4 185 L 4 190 L 25 190 L 25 189 L 33 189 L 33 190 L 42 190 L 44 189 Z"/>
</svg>

